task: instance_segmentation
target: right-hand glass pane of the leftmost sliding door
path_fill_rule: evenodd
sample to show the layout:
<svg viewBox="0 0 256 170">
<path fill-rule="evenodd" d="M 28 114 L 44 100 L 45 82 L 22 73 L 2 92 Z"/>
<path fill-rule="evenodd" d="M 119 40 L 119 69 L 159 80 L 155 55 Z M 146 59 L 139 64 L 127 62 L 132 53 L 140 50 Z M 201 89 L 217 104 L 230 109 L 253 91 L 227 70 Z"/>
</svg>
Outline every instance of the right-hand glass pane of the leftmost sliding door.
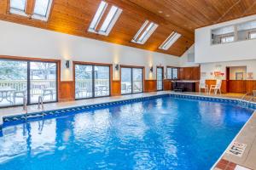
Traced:
<svg viewBox="0 0 256 170">
<path fill-rule="evenodd" d="M 57 65 L 51 62 L 32 61 L 29 65 L 29 103 L 38 103 L 43 96 L 44 102 L 57 100 Z"/>
</svg>

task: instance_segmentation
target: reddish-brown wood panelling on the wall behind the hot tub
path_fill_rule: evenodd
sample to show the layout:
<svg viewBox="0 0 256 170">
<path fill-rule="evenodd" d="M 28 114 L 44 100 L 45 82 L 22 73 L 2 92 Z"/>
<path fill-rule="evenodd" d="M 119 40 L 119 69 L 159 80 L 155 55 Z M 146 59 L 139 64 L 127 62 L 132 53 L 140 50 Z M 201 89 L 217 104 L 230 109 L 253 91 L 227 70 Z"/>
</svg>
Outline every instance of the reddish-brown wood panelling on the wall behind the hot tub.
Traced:
<svg viewBox="0 0 256 170">
<path fill-rule="evenodd" d="M 200 66 L 195 67 L 180 67 L 180 80 L 200 80 Z"/>
</svg>

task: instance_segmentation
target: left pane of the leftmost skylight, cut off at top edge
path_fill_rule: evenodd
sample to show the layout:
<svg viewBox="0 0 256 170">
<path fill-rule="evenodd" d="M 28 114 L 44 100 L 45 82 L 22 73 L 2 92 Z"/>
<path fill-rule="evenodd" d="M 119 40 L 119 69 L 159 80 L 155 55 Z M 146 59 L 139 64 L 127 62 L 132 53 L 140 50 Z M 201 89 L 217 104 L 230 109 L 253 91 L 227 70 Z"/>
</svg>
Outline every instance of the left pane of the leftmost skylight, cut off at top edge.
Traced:
<svg viewBox="0 0 256 170">
<path fill-rule="evenodd" d="M 26 15 L 25 13 L 26 0 L 10 0 L 9 6 L 10 6 L 10 10 L 9 10 L 10 13 Z"/>
</svg>

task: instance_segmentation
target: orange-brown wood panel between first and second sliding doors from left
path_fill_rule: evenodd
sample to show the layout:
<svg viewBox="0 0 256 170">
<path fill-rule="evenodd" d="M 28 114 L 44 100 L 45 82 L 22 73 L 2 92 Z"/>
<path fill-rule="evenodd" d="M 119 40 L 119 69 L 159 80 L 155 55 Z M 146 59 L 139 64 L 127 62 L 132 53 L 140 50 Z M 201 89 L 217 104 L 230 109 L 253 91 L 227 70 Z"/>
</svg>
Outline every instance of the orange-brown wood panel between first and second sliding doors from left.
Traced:
<svg viewBox="0 0 256 170">
<path fill-rule="evenodd" d="M 72 101 L 75 98 L 74 82 L 63 81 L 59 86 L 59 101 Z"/>
</svg>

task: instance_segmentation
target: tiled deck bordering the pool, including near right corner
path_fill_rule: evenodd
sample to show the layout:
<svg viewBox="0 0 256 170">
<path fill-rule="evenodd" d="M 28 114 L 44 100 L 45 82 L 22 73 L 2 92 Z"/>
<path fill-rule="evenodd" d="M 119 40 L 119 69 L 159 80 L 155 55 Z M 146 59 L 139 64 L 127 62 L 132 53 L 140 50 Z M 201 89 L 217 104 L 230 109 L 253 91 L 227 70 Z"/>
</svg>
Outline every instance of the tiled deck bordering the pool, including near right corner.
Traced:
<svg viewBox="0 0 256 170">
<path fill-rule="evenodd" d="M 155 95 L 161 94 L 180 94 L 180 93 L 173 93 L 171 91 L 164 91 L 164 92 L 155 92 L 155 93 L 148 93 L 148 94 L 129 94 L 123 96 L 116 96 L 116 97 L 106 97 L 106 98 L 97 98 L 97 99 L 83 99 L 83 100 L 76 100 L 70 102 L 62 102 L 62 103 L 50 103 L 45 104 L 44 109 L 45 111 L 57 110 L 57 109 L 64 109 L 68 107 L 76 107 L 80 105 L 96 105 L 102 104 L 106 102 L 116 102 L 120 100 L 126 99 L 137 99 L 137 98 L 144 98 L 150 97 Z M 182 93 L 188 94 L 193 96 L 204 96 L 204 97 L 215 97 L 220 99 L 241 99 L 243 94 L 222 94 L 222 95 L 212 95 L 212 94 L 199 94 L 199 93 Z M 38 105 L 29 105 L 28 113 L 38 112 Z M 22 107 L 9 107 L 0 109 L 0 125 L 3 124 L 3 117 L 4 116 L 15 116 L 24 114 L 25 112 L 22 111 Z M 212 167 L 214 170 L 228 170 L 228 169 L 242 169 L 247 167 L 248 169 L 256 169 L 256 111 L 254 111 L 253 116 L 248 120 L 246 125 L 241 129 L 240 133 L 237 134 L 236 138 L 233 142 L 239 142 L 242 144 L 247 144 L 246 149 L 244 150 L 242 156 L 233 156 L 227 153 L 227 150 L 231 147 L 228 147 L 227 150 L 224 151 L 223 156 L 220 157 L 218 162 Z M 240 167 L 241 166 L 241 167 Z"/>
</svg>

